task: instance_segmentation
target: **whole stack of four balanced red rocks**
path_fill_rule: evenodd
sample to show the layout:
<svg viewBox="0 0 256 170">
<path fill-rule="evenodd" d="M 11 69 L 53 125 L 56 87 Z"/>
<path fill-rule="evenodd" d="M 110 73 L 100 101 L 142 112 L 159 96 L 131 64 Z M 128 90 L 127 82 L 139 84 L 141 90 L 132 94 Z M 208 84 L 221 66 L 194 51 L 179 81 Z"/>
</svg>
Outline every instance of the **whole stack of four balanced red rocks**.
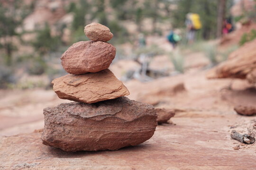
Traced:
<svg viewBox="0 0 256 170">
<path fill-rule="evenodd" d="M 64 151 L 117 150 L 141 144 L 154 135 L 155 109 L 129 100 L 128 89 L 108 69 L 116 49 L 113 34 L 98 23 L 85 26 L 91 41 L 76 42 L 61 57 L 69 73 L 53 80 L 62 103 L 44 109 L 43 144 Z"/>
</svg>

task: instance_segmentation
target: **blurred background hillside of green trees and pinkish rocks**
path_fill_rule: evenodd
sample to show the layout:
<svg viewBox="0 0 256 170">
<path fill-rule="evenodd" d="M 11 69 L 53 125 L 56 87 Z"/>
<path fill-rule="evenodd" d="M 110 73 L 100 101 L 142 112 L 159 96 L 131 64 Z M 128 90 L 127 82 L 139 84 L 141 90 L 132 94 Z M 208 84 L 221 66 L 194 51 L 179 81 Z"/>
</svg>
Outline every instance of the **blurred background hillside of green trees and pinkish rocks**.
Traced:
<svg viewBox="0 0 256 170">
<path fill-rule="evenodd" d="M 225 47 L 225 56 L 233 49 L 230 46 L 256 36 L 255 4 L 255 0 L 226 0 L 226 16 L 233 16 L 236 31 L 221 38 L 218 48 Z M 112 68 L 120 76 L 130 73 L 126 68 L 137 68 L 133 60 L 145 53 L 151 58 L 149 67 L 158 69 L 154 73 L 159 68 L 168 71 L 163 75 L 184 72 L 191 63 L 198 66 L 204 57 L 215 62 L 207 57 L 215 48 L 204 47 L 208 43 L 203 41 L 216 38 L 217 8 L 218 1 L 213 0 L 0 0 L 0 88 L 50 88 L 52 79 L 65 74 L 60 67 L 62 53 L 74 42 L 88 40 L 83 27 L 91 22 L 108 26 L 114 34 L 110 43 L 117 54 Z M 198 13 L 202 22 L 199 43 L 193 45 L 185 38 L 188 12 Z M 166 40 L 170 30 L 182 37 L 182 54 L 172 53 Z M 146 39 L 145 48 L 139 48 L 140 37 Z M 188 51 L 198 49 L 200 55 L 191 62 Z M 129 61 L 117 63 L 120 59 Z"/>
</svg>

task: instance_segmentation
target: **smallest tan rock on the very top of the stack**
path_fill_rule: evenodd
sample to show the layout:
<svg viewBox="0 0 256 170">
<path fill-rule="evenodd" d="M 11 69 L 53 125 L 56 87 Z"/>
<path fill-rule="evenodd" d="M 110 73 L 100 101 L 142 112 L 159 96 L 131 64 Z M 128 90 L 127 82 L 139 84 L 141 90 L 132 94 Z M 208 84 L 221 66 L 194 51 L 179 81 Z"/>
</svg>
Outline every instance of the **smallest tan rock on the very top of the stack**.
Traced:
<svg viewBox="0 0 256 170">
<path fill-rule="evenodd" d="M 110 29 L 107 26 L 103 26 L 99 23 L 91 23 L 85 26 L 84 33 L 90 40 L 94 42 L 107 42 L 113 37 Z"/>
</svg>

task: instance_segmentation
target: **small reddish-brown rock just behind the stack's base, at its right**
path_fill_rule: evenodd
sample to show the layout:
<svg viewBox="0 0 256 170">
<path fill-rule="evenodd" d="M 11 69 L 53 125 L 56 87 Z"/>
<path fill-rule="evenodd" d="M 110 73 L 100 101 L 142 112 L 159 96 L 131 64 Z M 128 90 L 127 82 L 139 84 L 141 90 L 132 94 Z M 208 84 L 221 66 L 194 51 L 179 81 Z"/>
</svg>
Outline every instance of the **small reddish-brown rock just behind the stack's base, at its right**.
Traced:
<svg viewBox="0 0 256 170">
<path fill-rule="evenodd" d="M 156 108 L 155 112 L 157 114 L 158 124 L 167 123 L 175 115 L 175 110 L 166 110 L 164 108 Z"/>
</svg>

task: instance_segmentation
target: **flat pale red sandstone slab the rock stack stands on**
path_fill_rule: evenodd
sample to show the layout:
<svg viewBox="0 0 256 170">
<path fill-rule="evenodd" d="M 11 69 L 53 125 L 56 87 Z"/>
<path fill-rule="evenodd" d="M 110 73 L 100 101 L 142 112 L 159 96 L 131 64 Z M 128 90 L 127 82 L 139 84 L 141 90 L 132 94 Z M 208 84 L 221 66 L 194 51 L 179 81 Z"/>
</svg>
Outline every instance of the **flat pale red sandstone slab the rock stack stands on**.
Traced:
<svg viewBox="0 0 256 170">
<path fill-rule="evenodd" d="M 157 126 L 148 141 L 117 151 L 64 152 L 42 144 L 41 132 L 1 136 L 0 169 L 255 170 L 256 144 L 234 150 L 239 142 L 230 139 L 232 129 L 228 127 L 231 122 L 242 126 L 241 119 L 243 125 L 247 125 L 251 117 L 225 113 L 227 115 L 212 111 L 178 114 L 172 118 L 177 125 Z"/>
</svg>

